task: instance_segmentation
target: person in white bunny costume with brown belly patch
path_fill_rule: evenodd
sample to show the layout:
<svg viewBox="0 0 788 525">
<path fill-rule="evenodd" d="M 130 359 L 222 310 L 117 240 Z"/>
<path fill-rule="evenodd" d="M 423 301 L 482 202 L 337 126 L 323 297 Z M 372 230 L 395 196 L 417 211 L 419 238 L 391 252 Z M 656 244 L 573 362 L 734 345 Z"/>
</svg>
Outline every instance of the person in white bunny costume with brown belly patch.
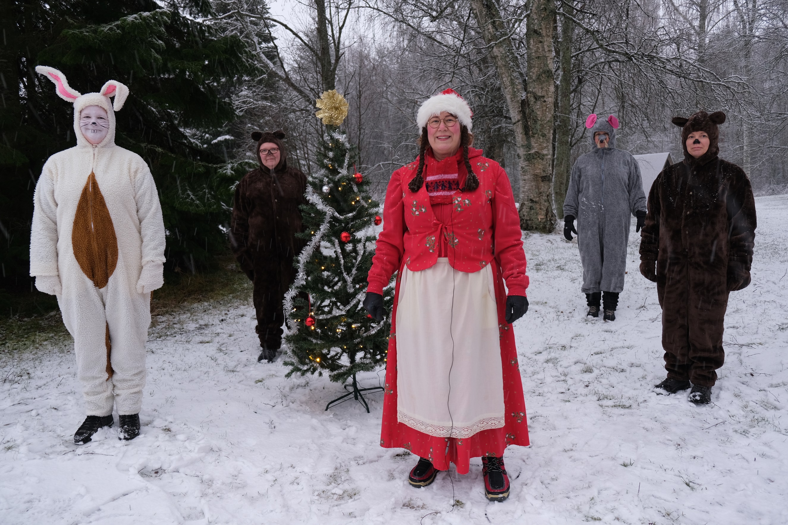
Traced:
<svg viewBox="0 0 788 525">
<path fill-rule="evenodd" d="M 76 146 L 43 166 L 30 239 L 35 287 L 58 297 L 74 338 L 87 412 L 74 442 L 111 427 L 113 405 L 119 437 L 136 438 L 151 292 L 164 283 L 162 206 L 142 157 L 115 145 L 115 112 L 128 87 L 110 80 L 99 93 L 80 94 L 57 69 L 35 71 L 74 105 Z"/>
</svg>

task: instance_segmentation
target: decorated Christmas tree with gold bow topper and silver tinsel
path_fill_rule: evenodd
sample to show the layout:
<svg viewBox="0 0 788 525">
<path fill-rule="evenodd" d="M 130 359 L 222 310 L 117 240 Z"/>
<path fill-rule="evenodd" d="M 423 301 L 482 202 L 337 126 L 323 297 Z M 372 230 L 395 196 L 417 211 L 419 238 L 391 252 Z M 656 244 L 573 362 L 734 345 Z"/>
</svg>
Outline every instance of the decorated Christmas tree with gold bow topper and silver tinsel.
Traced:
<svg viewBox="0 0 788 525">
<path fill-rule="evenodd" d="M 369 412 L 362 391 L 382 389 L 359 389 L 355 375 L 384 363 L 388 349 L 388 320 L 374 320 L 362 306 L 380 205 L 370 197 L 370 179 L 355 171 L 354 152 L 339 128 L 348 102 L 332 90 L 317 106 L 326 132 L 318 150 L 320 169 L 307 184 L 309 204 L 301 206 L 304 232 L 299 236 L 307 246 L 296 261 L 296 281 L 284 296 L 289 349 L 284 364 L 291 367 L 288 377 L 325 372 L 337 383 L 350 379 L 349 394 L 329 406 L 353 396 Z M 388 287 L 389 312 L 393 294 Z"/>
</svg>

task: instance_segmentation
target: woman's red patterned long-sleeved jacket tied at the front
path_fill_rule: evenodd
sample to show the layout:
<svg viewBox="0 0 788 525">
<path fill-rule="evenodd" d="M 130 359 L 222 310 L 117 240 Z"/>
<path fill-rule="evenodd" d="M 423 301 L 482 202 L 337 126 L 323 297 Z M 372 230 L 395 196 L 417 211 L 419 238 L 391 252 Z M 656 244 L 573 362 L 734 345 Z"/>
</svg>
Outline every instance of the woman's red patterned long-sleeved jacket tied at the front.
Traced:
<svg viewBox="0 0 788 525">
<path fill-rule="evenodd" d="M 383 231 L 377 237 L 367 291 L 382 294 L 403 258 L 411 272 L 430 268 L 437 262 L 438 243 L 448 243 L 448 262 L 461 272 L 478 272 L 495 257 L 511 295 L 525 295 L 528 287 L 526 254 L 522 232 L 504 169 L 496 161 L 469 148 L 468 157 L 478 176 L 477 190 L 452 195 L 453 212 L 448 224 L 437 219 L 426 184 L 413 193 L 408 183 L 416 174 L 418 159 L 396 170 L 388 182 L 383 207 Z M 459 185 L 467 176 L 462 152 L 443 161 L 427 153 L 422 176 L 459 173 Z"/>
</svg>

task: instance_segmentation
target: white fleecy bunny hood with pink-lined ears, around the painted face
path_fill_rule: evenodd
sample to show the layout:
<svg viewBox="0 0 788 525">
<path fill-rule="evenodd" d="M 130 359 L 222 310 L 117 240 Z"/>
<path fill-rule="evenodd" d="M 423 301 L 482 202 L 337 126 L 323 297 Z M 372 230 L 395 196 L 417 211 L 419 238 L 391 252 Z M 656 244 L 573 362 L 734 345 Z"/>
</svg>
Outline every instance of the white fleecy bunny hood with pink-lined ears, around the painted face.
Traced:
<svg viewBox="0 0 788 525">
<path fill-rule="evenodd" d="M 69 81 L 65 78 L 65 75 L 55 68 L 50 68 L 46 65 L 37 65 L 35 66 L 35 72 L 50 79 L 52 83 L 54 83 L 55 93 L 58 94 L 58 97 L 74 105 L 74 133 L 76 133 L 77 146 L 91 146 L 80 131 L 80 113 L 83 109 L 87 108 L 88 105 L 98 105 L 104 108 L 107 113 L 107 118 L 110 121 L 110 131 L 99 146 L 114 145 L 115 112 L 123 107 L 123 103 L 126 102 L 126 97 L 128 97 L 128 87 L 126 87 L 125 84 L 117 80 L 107 80 L 99 93 L 81 94 L 79 91 L 69 86 Z M 110 97 L 114 97 L 115 101 L 110 102 Z"/>
</svg>

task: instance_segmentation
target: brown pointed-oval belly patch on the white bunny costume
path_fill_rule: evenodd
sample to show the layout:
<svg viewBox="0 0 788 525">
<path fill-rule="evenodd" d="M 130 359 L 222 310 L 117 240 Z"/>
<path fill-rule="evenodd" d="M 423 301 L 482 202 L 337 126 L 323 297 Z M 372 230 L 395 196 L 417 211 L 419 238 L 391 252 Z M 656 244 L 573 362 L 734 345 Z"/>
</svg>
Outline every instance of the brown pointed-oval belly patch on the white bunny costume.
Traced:
<svg viewBox="0 0 788 525">
<path fill-rule="evenodd" d="M 117 237 L 93 172 L 87 177 L 76 205 L 71 245 L 76 262 L 87 278 L 96 288 L 106 287 L 117 266 Z"/>
</svg>

